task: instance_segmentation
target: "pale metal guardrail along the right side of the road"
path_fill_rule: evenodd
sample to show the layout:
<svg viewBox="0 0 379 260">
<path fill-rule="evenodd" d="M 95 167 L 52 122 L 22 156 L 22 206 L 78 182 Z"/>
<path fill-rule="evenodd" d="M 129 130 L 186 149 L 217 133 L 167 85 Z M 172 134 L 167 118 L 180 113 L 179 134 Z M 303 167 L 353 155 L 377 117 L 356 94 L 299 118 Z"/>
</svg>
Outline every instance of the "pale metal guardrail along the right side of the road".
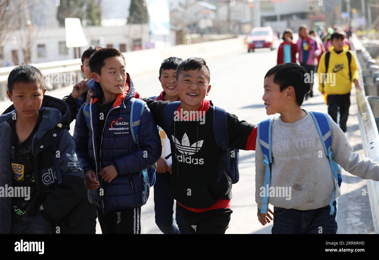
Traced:
<svg viewBox="0 0 379 260">
<path fill-rule="evenodd" d="M 353 44 L 354 46 L 354 44 Z M 362 47 L 358 50 L 359 55 L 362 55 L 365 49 Z M 362 66 L 360 65 L 357 50 L 353 50 L 357 66 L 359 70 L 360 82 L 363 87 L 362 91 L 357 90 L 357 104 L 358 104 L 358 120 L 359 129 L 362 134 L 362 145 L 365 152 L 365 156 L 372 159 L 375 162 L 379 161 L 379 133 L 374 118 L 373 111 L 368 102 L 362 76 Z M 373 217 L 375 233 L 379 233 L 379 181 L 367 180 L 367 193 L 370 199 L 371 214 Z"/>
</svg>

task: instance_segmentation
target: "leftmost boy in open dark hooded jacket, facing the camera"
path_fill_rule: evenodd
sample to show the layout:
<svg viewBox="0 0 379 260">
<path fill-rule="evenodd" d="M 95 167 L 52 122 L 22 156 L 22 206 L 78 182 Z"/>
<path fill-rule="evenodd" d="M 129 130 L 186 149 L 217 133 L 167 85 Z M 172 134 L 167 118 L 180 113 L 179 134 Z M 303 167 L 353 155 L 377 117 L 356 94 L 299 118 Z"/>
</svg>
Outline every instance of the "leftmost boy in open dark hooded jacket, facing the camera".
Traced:
<svg viewBox="0 0 379 260">
<path fill-rule="evenodd" d="M 24 194 L 0 198 L 0 233 L 94 233 L 69 108 L 45 91 L 33 66 L 9 74 L 13 105 L 0 116 L 0 186 Z"/>
</svg>

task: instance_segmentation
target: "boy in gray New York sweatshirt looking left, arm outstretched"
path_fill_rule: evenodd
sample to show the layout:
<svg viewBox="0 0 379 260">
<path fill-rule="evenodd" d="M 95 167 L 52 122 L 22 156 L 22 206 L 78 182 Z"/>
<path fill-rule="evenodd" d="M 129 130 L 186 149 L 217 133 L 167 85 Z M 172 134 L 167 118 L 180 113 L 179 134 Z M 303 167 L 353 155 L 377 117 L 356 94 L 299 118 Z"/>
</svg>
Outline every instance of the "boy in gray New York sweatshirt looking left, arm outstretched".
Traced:
<svg viewBox="0 0 379 260">
<path fill-rule="evenodd" d="M 258 220 L 265 225 L 274 216 L 273 234 L 337 232 L 336 202 L 330 215 L 329 202 L 337 186 L 335 199 L 340 194 L 337 180 L 324 154 L 323 144 L 315 121 L 309 112 L 301 109 L 310 84 L 305 83 L 305 70 L 294 63 L 271 68 L 264 81 L 266 113 L 275 117 L 271 127 L 271 180 L 268 203 L 274 212 L 260 213 L 265 192 L 264 156 L 259 142 L 255 148 L 255 201 Z M 353 153 L 345 134 L 327 115 L 331 132 L 333 159 L 343 169 L 362 179 L 379 180 L 379 163 Z M 258 137 L 259 138 L 259 137 Z M 258 141 L 258 140 L 257 140 Z M 278 192 L 281 191 L 281 192 Z"/>
</svg>

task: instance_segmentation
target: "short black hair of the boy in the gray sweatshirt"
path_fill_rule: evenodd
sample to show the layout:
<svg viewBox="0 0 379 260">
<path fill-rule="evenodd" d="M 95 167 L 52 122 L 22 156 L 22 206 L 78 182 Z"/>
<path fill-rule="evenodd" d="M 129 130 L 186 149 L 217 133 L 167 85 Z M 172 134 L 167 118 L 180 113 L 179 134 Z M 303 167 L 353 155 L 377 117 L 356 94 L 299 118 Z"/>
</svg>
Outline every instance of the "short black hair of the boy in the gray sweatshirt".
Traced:
<svg viewBox="0 0 379 260">
<path fill-rule="evenodd" d="M 280 86 L 280 92 L 292 86 L 296 93 L 296 103 L 301 106 L 304 96 L 310 91 L 310 83 L 305 83 L 305 69 L 296 63 L 282 63 L 269 69 L 266 77 L 274 75 L 274 83 Z"/>
</svg>

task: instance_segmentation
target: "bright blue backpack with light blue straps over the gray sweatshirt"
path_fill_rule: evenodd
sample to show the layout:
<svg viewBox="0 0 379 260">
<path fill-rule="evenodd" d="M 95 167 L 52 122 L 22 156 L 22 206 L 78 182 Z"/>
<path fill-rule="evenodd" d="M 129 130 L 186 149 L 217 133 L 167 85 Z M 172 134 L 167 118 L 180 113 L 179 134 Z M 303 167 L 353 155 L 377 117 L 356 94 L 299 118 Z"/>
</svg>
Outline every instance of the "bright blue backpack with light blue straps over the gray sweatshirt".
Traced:
<svg viewBox="0 0 379 260">
<path fill-rule="evenodd" d="M 309 112 L 315 121 L 316 128 L 321 139 L 321 143 L 323 144 L 325 154 L 328 155 L 330 168 L 332 169 L 332 173 L 334 175 L 335 180 L 337 180 L 338 187 L 341 186 L 342 176 L 340 166 L 332 159 L 333 152 L 330 150 L 332 146 L 332 128 L 330 127 L 329 118 L 326 114 L 320 112 Z M 267 212 L 268 207 L 268 186 L 271 179 L 271 163 L 273 162 L 271 156 L 271 124 L 273 123 L 274 118 L 267 118 L 266 120 L 258 123 L 258 143 L 261 148 L 262 154 L 265 157 L 263 160 L 263 164 L 266 165 L 265 170 L 265 178 L 264 178 L 264 187 L 266 188 L 266 193 L 262 197 L 262 207 L 260 209 L 261 213 Z M 332 199 L 329 202 L 330 206 L 330 215 L 334 214 L 334 206 L 333 202 L 335 200 L 335 196 L 337 194 L 337 185 L 334 189 L 334 194 Z"/>
</svg>

